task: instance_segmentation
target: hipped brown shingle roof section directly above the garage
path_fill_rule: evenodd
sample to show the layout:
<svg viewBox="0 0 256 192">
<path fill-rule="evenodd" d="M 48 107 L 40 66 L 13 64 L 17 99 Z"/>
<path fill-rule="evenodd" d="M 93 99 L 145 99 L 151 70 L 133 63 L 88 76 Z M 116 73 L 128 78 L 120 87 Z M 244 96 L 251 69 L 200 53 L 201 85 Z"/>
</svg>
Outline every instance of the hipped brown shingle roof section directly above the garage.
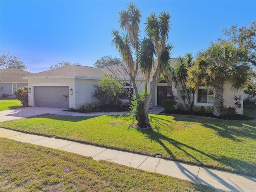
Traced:
<svg viewBox="0 0 256 192">
<path fill-rule="evenodd" d="M 103 72 L 98 68 L 86 67 L 81 65 L 69 65 L 66 67 L 60 67 L 44 72 L 35 73 L 29 75 L 28 77 L 91 77 L 91 78 L 101 78 Z"/>
</svg>

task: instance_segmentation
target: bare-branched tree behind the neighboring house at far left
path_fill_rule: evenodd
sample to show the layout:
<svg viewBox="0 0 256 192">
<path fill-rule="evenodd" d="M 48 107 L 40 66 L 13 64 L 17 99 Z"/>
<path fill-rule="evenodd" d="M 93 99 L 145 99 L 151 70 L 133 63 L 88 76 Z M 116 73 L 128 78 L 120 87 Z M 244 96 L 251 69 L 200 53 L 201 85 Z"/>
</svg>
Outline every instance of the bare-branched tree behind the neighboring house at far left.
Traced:
<svg viewBox="0 0 256 192">
<path fill-rule="evenodd" d="M 16 55 L 9 56 L 9 52 L 3 53 L 0 56 L 0 68 L 10 68 L 15 67 L 20 70 L 25 70 L 27 66 L 24 64 L 24 62 L 20 61 L 20 58 L 18 58 Z"/>
</svg>

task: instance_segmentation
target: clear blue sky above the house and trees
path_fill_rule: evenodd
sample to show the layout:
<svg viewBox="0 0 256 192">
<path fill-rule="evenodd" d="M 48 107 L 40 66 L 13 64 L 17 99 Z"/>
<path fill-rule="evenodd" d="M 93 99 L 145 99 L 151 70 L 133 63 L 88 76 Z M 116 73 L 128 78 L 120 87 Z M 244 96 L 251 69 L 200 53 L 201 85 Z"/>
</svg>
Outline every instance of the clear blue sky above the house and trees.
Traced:
<svg viewBox="0 0 256 192">
<path fill-rule="evenodd" d="M 0 1 L 0 53 L 10 52 L 30 72 L 49 70 L 62 60 L 93 66 L 102 56 L 120 57 L 111 46 L 111 30 L 119 29 L 118 12 L 129 1 Z M 256 1 L 133 1 L 143 17 L 161 10 L 172 14 L 169 42 L 172 57 L 194 56 L 222 28 L 256 20 Z M 144 34 L 142 33 L 142 37 Z"/>
</svg>

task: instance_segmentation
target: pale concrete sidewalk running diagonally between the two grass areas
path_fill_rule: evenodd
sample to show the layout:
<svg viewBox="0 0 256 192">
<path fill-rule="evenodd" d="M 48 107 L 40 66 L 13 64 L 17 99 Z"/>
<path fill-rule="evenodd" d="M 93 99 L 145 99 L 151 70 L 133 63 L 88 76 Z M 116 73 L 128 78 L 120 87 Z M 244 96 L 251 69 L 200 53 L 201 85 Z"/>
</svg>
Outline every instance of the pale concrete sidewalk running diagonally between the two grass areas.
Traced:
<svg viewBox="0 0 256 192">
<path fill-rule="evenodd" d="M 62 139 L 25 134 L 4 128 L 0 128 L 0 137 L 91 156 L 94 160 L 108 160 L 150 172 L 157 172 L 199 184 L 213 186 L 222 190 L 234 192 L 256 191 L 255 177 Z"/>
</svg>

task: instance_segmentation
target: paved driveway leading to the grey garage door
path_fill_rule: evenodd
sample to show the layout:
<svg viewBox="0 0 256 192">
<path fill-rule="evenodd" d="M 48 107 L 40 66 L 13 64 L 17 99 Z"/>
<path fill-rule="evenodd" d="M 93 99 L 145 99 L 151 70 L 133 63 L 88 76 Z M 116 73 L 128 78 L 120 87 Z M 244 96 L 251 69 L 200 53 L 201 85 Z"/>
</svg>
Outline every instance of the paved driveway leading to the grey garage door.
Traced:
<svg viewBox="0 0 256 192">
<path fill-rule="evenodd" d="M 11 109 L 11 110 L 3 110 L 0 111 L 0 122 L 26 118 L 36 115 L 42 115 L 46 113 L 50 114 L 58 114 L 65 109 L 59 108 L 48 108 L 48 107 L 24 107 L 18 109 Z"/>
</svg>

